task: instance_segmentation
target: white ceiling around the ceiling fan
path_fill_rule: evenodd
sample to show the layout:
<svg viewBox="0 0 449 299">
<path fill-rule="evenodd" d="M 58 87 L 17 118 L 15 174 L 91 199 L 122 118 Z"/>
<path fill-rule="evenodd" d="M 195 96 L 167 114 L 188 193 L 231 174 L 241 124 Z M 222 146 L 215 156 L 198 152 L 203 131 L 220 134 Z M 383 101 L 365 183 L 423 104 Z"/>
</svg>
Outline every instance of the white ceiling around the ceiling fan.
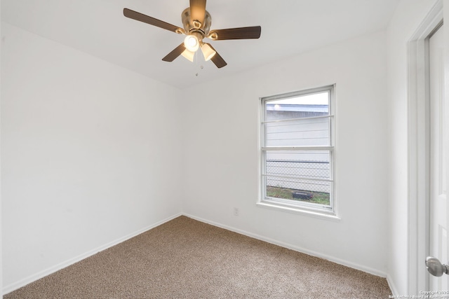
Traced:
<svg viewBox="0 0 449 299">
<path fill-rule="evenodd" d="M 201 61 L 201 53 L 194 63 L 182 56 L 163 62 L 183 36 L 123 16 L 130 8 L 182 27 L 188 0 L 1 0 L 1 20 L 185 88 L 385 29 L 398 1 L 208 0 L 212 29 L 262 26 L 260 39 L 211 42 L 228 63 L 222 69 Z"/>
</svg>

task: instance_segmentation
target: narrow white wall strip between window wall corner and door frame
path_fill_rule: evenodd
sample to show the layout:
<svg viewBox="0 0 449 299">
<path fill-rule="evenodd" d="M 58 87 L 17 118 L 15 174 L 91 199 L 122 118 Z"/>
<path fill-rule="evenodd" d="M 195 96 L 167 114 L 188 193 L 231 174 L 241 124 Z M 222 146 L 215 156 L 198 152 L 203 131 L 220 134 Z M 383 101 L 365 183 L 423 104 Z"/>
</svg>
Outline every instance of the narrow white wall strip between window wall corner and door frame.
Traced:
<svg viewBox="0 0 449 299">
<path fill-rule="evenodd" d="M 409 294 L 408 246 L 408 41 L 435 0 L 404 0 L 387 30 L 390 153 L 389 282 L 396 295 Z M 410 228 L 415 230 L 415 228 Z M 423 261 L 424 263 L 424 261 Z M 423 265 L 424 266 L 424 265 Z M 410 293 L 410 295 L 413 295 Z"/>
</svg>

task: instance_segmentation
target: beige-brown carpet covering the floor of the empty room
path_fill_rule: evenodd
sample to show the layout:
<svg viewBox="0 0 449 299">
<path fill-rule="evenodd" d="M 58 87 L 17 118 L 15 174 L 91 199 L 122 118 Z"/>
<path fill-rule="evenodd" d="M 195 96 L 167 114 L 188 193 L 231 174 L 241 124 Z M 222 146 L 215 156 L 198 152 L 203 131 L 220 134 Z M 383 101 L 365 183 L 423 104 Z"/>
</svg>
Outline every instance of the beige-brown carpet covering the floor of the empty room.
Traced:
<svg viewBox="0 0 449 299">
<path fill-rule="evenodd" d="M 386 279 L 185 216 L 81 260 L 13 298 L 388 298 Z"/>
</svg>

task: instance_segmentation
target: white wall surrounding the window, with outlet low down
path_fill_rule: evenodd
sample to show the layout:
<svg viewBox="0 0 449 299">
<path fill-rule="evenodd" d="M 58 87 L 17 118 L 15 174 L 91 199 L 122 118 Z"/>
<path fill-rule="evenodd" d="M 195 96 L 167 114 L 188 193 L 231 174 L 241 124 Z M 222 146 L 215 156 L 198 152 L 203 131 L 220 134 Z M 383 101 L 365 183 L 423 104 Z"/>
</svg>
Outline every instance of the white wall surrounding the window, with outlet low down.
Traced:
<svg viewBox="0 0 449 299">
<path fill-rule="evenodd" d="M 384 33 L 369 34 L 190 88 L 183 103 L 185 213 L 386 275 L 385 46 Z M 256 206 L 259 98 L 333 83 L 341 221 Z"/>
</svg>

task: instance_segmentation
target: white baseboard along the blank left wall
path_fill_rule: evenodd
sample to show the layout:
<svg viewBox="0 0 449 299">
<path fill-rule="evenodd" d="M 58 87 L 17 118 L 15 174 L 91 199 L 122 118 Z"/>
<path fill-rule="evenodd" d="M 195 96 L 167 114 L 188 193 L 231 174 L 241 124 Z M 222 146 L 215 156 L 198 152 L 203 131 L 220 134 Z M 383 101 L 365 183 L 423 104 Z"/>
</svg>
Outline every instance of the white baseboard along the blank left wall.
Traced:
<svg viewBox="0 0 449 299">
<path fill-rule="evenodd" d="M 115 246 L 116 244 L 119 244 L 121 242 L 125 242 L 126 240 L 135 237 L 137 235 L 140 235 L 142 232 L 146 232 L 147 230 L 151 230 L 152 228 L 156 228 L 156 226 L 159 226 L 163 223 L 166 223 L 170 220 L 173 220 L 174 218 L 177 218 L 181 216 L 182 214 L 175 214 L 173 216 L 170 216 L 166 219 L 163 219 L 162 221 L 158 221 L 156 223 L 153 223 L 152 225 L 147 226 L 146 228 L 142 228 L 140 230 L 137 230 L 135 232 L 130 233 L 129 235 L 126 235 L 124 237 L 121 237 L 119 239 L 116 239 L 112 242 L 109 242 L 107 244 L 104 244 L 102 246 L 99 246 L 91 251 L 88 251 L 86 253 L 83 253 L 79 256 L 76 256 L 74 258 L 70 258 L 69 260 L 66 260 L 65 262 L 59 263 L 58 265 L 54 265 L 53 267 L 49 267 L 46 270 L 42 270 L 41 272 L 37 272 L 36 274 L 32 274 L 29 277 L 26 277 L 25 279 L 21 279 L 20 281 L 17 281 L 13 284 L 9 284 L 8 286 L 4 286 L 3 288 L 3 294 L 6 295 L 7 293 L 11 293 L 12 291 L 17 290 L 18 288 L 21 288 L 22 286 L 26 286 L 27 284 L 32 283 L 33 281 L 36 281 L 38 279 L 41 279 L 43 277 L 46 277 L 50 274 L 53 274 L 54 272 L 57 272 L 65 267 L 68 267 L 69 265 L 73 265 L 74 263 L 78 263 L 80 260 L 83 260 L 85 258 L 88 258 L 89 256 L 93 256 L 94 254 L 103 251 L 105 249 L 108 249 L 112 246 Z"/>
</svg>

